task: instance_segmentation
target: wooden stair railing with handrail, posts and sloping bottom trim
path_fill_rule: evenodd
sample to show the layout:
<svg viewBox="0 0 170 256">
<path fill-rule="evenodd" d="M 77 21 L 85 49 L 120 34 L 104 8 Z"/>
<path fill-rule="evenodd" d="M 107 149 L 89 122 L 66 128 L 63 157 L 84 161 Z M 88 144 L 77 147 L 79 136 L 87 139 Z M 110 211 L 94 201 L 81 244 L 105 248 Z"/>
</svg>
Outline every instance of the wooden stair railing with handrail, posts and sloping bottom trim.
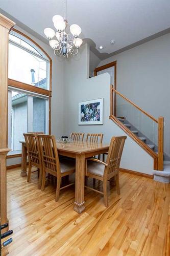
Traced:
<svg viewBox="0 0 170 256">
<path fill-rule="evenodd" d="M 158 124 L 158 154 L 156 154 L 151 148 L 141 141 L 135 134 L 133 134 L 121 121 L 119 121 L 113 112 L 113 93 L 118 94 L 120 97 L 124 98 L 128 101 L 131 105 L 133 105 L 136 109 L 142 112 L 144 115 L 151 118 L 155 123 Z M 117 92 L 113 86 L 110 86 L 110 119 L 114 121 L 124 132 L 126 132 L 138 145 L 140 145 L 151 157 L 154 159 L 154 169 L 155 170 L 163 170 L 163 126 L 164 126 L 164 118 L 159 117 L 156 119 L 155 117 L 151 116 L 144 110 L 142 110 L 138 105 L 133 103 L 131 100 L 126 98 L 123 94 Z"/>
</svg>

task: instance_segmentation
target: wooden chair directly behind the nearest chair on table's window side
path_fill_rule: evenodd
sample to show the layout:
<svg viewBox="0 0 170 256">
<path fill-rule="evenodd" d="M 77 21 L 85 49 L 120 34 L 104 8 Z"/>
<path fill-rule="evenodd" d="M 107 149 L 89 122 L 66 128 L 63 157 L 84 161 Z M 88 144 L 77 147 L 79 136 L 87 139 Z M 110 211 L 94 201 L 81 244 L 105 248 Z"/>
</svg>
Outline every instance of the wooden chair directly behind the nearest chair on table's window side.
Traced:
<svg viewBox="0 0 170 256">
<path fill-rule="evenodd" d="M 30 181 L 31 174 L 38 171 L 38 188 L 41 188 L 41 179 L 42 179 L 42 161 L 40 148 L 37 141 L 37 135 L 35 133 L 24 133 L 23 136 L 26 140 L 28 159 L 29 159 L 29 169 L 27 181 Z M 37 167 L 37 170 L 32 172 L 32 166 Z"/>
</svg>

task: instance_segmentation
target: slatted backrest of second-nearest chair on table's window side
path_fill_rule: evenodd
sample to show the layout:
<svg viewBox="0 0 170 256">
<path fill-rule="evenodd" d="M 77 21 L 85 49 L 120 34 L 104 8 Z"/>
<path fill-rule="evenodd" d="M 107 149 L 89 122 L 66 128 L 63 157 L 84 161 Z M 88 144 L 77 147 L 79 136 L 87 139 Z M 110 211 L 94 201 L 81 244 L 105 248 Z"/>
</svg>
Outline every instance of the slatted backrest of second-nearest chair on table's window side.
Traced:
<svg viewBox="0 0 170 256">
<path fill-rule="evenodd" d="M 32 164 L 40 165 L 41 154 L 40 154 L 40 148 L 39 148 L 36 134 L 24 133 L 23 136 L 25 137 L 25 140 L 26 140 L 29 161 L 31 161 Z"/>
</svg>

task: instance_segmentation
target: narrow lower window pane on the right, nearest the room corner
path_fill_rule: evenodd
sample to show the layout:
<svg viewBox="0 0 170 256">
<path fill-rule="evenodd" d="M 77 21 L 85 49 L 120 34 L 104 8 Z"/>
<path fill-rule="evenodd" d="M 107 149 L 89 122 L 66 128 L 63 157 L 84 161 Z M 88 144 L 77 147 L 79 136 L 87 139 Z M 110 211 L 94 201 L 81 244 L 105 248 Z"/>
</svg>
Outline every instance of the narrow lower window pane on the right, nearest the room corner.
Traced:
<svg viewBox="0 0 170 256">
<path fill-rule="evenodd" d="M 45 133 L 46 100 L 33 97 L 33 132 Z"/>
</svg>

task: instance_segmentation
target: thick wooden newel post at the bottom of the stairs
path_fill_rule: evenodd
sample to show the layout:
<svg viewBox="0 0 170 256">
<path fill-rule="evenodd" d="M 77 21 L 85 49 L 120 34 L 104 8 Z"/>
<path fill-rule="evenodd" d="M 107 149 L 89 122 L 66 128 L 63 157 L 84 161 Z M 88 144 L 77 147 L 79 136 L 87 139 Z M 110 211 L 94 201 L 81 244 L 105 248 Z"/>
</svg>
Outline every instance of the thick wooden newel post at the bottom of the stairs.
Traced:
<svg viewBox="0 0 170 256">
<path fill-rule="evenodd" d="M 158 118 L 158 170 L 163 170 L 163 129 L 164 118 Z"/>
</svg>

